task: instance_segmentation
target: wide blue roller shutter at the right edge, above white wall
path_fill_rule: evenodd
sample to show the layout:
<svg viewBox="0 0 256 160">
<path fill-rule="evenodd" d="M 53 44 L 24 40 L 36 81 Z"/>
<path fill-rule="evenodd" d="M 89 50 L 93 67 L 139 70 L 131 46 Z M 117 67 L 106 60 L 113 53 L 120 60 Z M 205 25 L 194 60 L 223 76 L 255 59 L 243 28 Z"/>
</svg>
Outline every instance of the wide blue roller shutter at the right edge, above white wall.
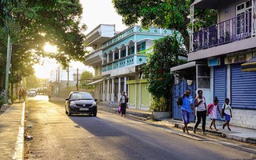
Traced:
<svg viewBox="0 0 256 160">
<path fill-rule="evenodd" d="M 256 72 L 242 72 L 241 64 L 231 65 L 231 106 L 256 109 Z"/>
</svg>

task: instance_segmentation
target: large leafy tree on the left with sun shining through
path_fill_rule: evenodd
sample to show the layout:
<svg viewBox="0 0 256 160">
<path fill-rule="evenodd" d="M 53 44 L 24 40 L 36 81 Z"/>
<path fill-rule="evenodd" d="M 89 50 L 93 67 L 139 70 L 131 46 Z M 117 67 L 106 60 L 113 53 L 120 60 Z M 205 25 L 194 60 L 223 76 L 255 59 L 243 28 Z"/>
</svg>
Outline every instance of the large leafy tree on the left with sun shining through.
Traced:
<svg viewBox="0 0 256 160">
<path fill-rule="evenodd" d="M 80 24 L 82 6 L 79 0 L 19 0 L 17 6 L 10 6 L 14 22 L 8 22 L 12 42 L 11 77 L 26 77 L 34 74 L 32 66 L 42 57 L 55 58 L 64 66 L 70 60 L 82 61 L 82 32 L 86 29 Z M 0 30 L 0 69 L 5 70 L 6 38 Z M 46 53 L 46 42 L 58 47 L 58 53 Z M 2 56 L 1 56 L 2 55 Z M 3 82 L 3 72 L 0 82 Z"/>
</svg>

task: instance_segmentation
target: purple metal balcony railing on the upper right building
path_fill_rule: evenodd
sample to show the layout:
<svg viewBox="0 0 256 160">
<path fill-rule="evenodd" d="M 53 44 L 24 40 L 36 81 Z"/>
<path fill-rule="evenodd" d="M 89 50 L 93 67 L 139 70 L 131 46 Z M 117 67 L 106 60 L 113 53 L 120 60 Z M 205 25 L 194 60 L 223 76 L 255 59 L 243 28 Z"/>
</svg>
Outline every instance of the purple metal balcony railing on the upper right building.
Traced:
<svg viewBox="0 0 256 160">
<path fill-rule="evenodd" d="M 251 36 L 251 12 L 238 15 L 193 34 L 193 52 Z"/>
</svg>

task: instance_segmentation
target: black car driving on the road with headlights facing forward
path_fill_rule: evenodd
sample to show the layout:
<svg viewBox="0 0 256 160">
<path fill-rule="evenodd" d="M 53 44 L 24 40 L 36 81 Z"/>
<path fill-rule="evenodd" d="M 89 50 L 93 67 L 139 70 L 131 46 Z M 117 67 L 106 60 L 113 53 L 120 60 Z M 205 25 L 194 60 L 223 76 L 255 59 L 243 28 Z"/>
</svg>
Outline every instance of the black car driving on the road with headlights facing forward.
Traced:
<svg viewBox="0 0 256 160">
<path fill-rule="evenodd" d="M 67 115 L 72 114 L 92 114 L 97 116 L 97 99 L 88 92 L 71 92 L 68 98 L 65 98 L 65 110 Z"/>
</svg>

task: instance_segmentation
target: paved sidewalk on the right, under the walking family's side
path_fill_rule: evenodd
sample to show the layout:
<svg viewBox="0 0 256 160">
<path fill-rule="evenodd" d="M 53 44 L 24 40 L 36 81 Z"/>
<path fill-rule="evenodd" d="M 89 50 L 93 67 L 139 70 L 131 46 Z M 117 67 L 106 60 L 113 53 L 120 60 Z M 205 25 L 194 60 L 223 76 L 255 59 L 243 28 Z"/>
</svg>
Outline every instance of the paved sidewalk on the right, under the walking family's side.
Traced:
<svg viewBox="0 0 256 160">
<path fill-rule="evenodd" d="M 98 104 L 98 110 L 104 110 L 111 113 L 118 113 L 118 106 L 106 105 L 104 103 L 100 103 Z M 150 111 L 135 110 L 130 108 L 126 110 L 126 114 L 127 116 L 138 118 L 141 120 L 148 120 L 152 117 L 152 113 Z M 174 126 L 182 130 L 182 126 L 183 126 L 182 121 L 174 120 L 173 118 L 162 118 L 162 119 L 158 119 L 158 121 L 161 121 L 166 126 Z M 192 131 L 194 125 L 195 125 L 194 122 L 191 122 L 189 124 L 190 134 L 194 134 Z M 201 134 L 201 131 L 202 131 L 201 125 L 202 123 L 198 126 L 197 134 L 198 133 Z M 227 130 L 227 128 L 225 128 L 225 130 L 222 130 L 222 123 L 220 122 L 216 122 L 216 125 L 217 125 L 216 127 L 218 131 L 210 130 L 209 128 L 210 120 L 206 121 L 206 134 L 214 134 L 214 135 L 221 136 L 223 138 L 230 138 L 240 142 L 250 142 L 250 143 L 256 144 L 256 130 L 246 129 L 238 126 L 232 126 L 232 122 L 230 124 L 231 131 Z"/>
</svg>

